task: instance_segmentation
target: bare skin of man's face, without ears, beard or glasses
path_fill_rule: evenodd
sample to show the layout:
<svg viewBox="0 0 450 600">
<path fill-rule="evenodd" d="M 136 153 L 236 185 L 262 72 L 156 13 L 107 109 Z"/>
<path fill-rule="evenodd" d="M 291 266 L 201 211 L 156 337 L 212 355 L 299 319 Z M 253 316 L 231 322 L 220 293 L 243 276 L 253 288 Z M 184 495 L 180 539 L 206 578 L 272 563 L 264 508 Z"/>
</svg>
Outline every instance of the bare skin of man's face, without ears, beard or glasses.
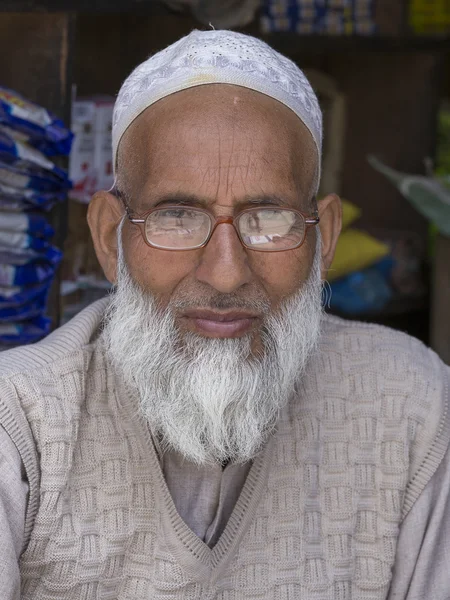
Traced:
<svg viewBox="0 0 450 600">
<path fill-rule="evenodd" d="M 133 123 L 119 148 L 119 185 L 138 215 L 166 203 L 215 216 L 261 204 L 311 214 L 316 157 L 310 133 L 280 103 L 236 86 L 200 86 L 161 100 Z M 182 331 L 253 332 L 256 343 L 264 313 L 299 290 L 315 250 L 314 229 L 300 248 L 271 253 L 244 248 L 228 224 L 197 250 L 151 248 L 128 221 L 122 239 L 132 279 L 162 308 L 175 307 Z"/>
</svg>

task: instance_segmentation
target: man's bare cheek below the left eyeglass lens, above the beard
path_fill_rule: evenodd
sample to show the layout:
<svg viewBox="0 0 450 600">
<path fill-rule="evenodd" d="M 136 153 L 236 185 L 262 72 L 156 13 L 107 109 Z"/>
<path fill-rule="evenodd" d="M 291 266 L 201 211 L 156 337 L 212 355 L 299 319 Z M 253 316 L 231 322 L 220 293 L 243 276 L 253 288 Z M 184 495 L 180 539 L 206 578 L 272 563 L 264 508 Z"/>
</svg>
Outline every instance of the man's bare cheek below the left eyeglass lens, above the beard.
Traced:
<svg viewBox="0 0 450 600">
<path fill-rule="evenodd" d="M 167 252 L 147 246 L 137 228 L 124 231 L 125 261 L 134 281 L 163 305 L 175 288 L 195 269 L 195 252 Z"/>
</svg>

